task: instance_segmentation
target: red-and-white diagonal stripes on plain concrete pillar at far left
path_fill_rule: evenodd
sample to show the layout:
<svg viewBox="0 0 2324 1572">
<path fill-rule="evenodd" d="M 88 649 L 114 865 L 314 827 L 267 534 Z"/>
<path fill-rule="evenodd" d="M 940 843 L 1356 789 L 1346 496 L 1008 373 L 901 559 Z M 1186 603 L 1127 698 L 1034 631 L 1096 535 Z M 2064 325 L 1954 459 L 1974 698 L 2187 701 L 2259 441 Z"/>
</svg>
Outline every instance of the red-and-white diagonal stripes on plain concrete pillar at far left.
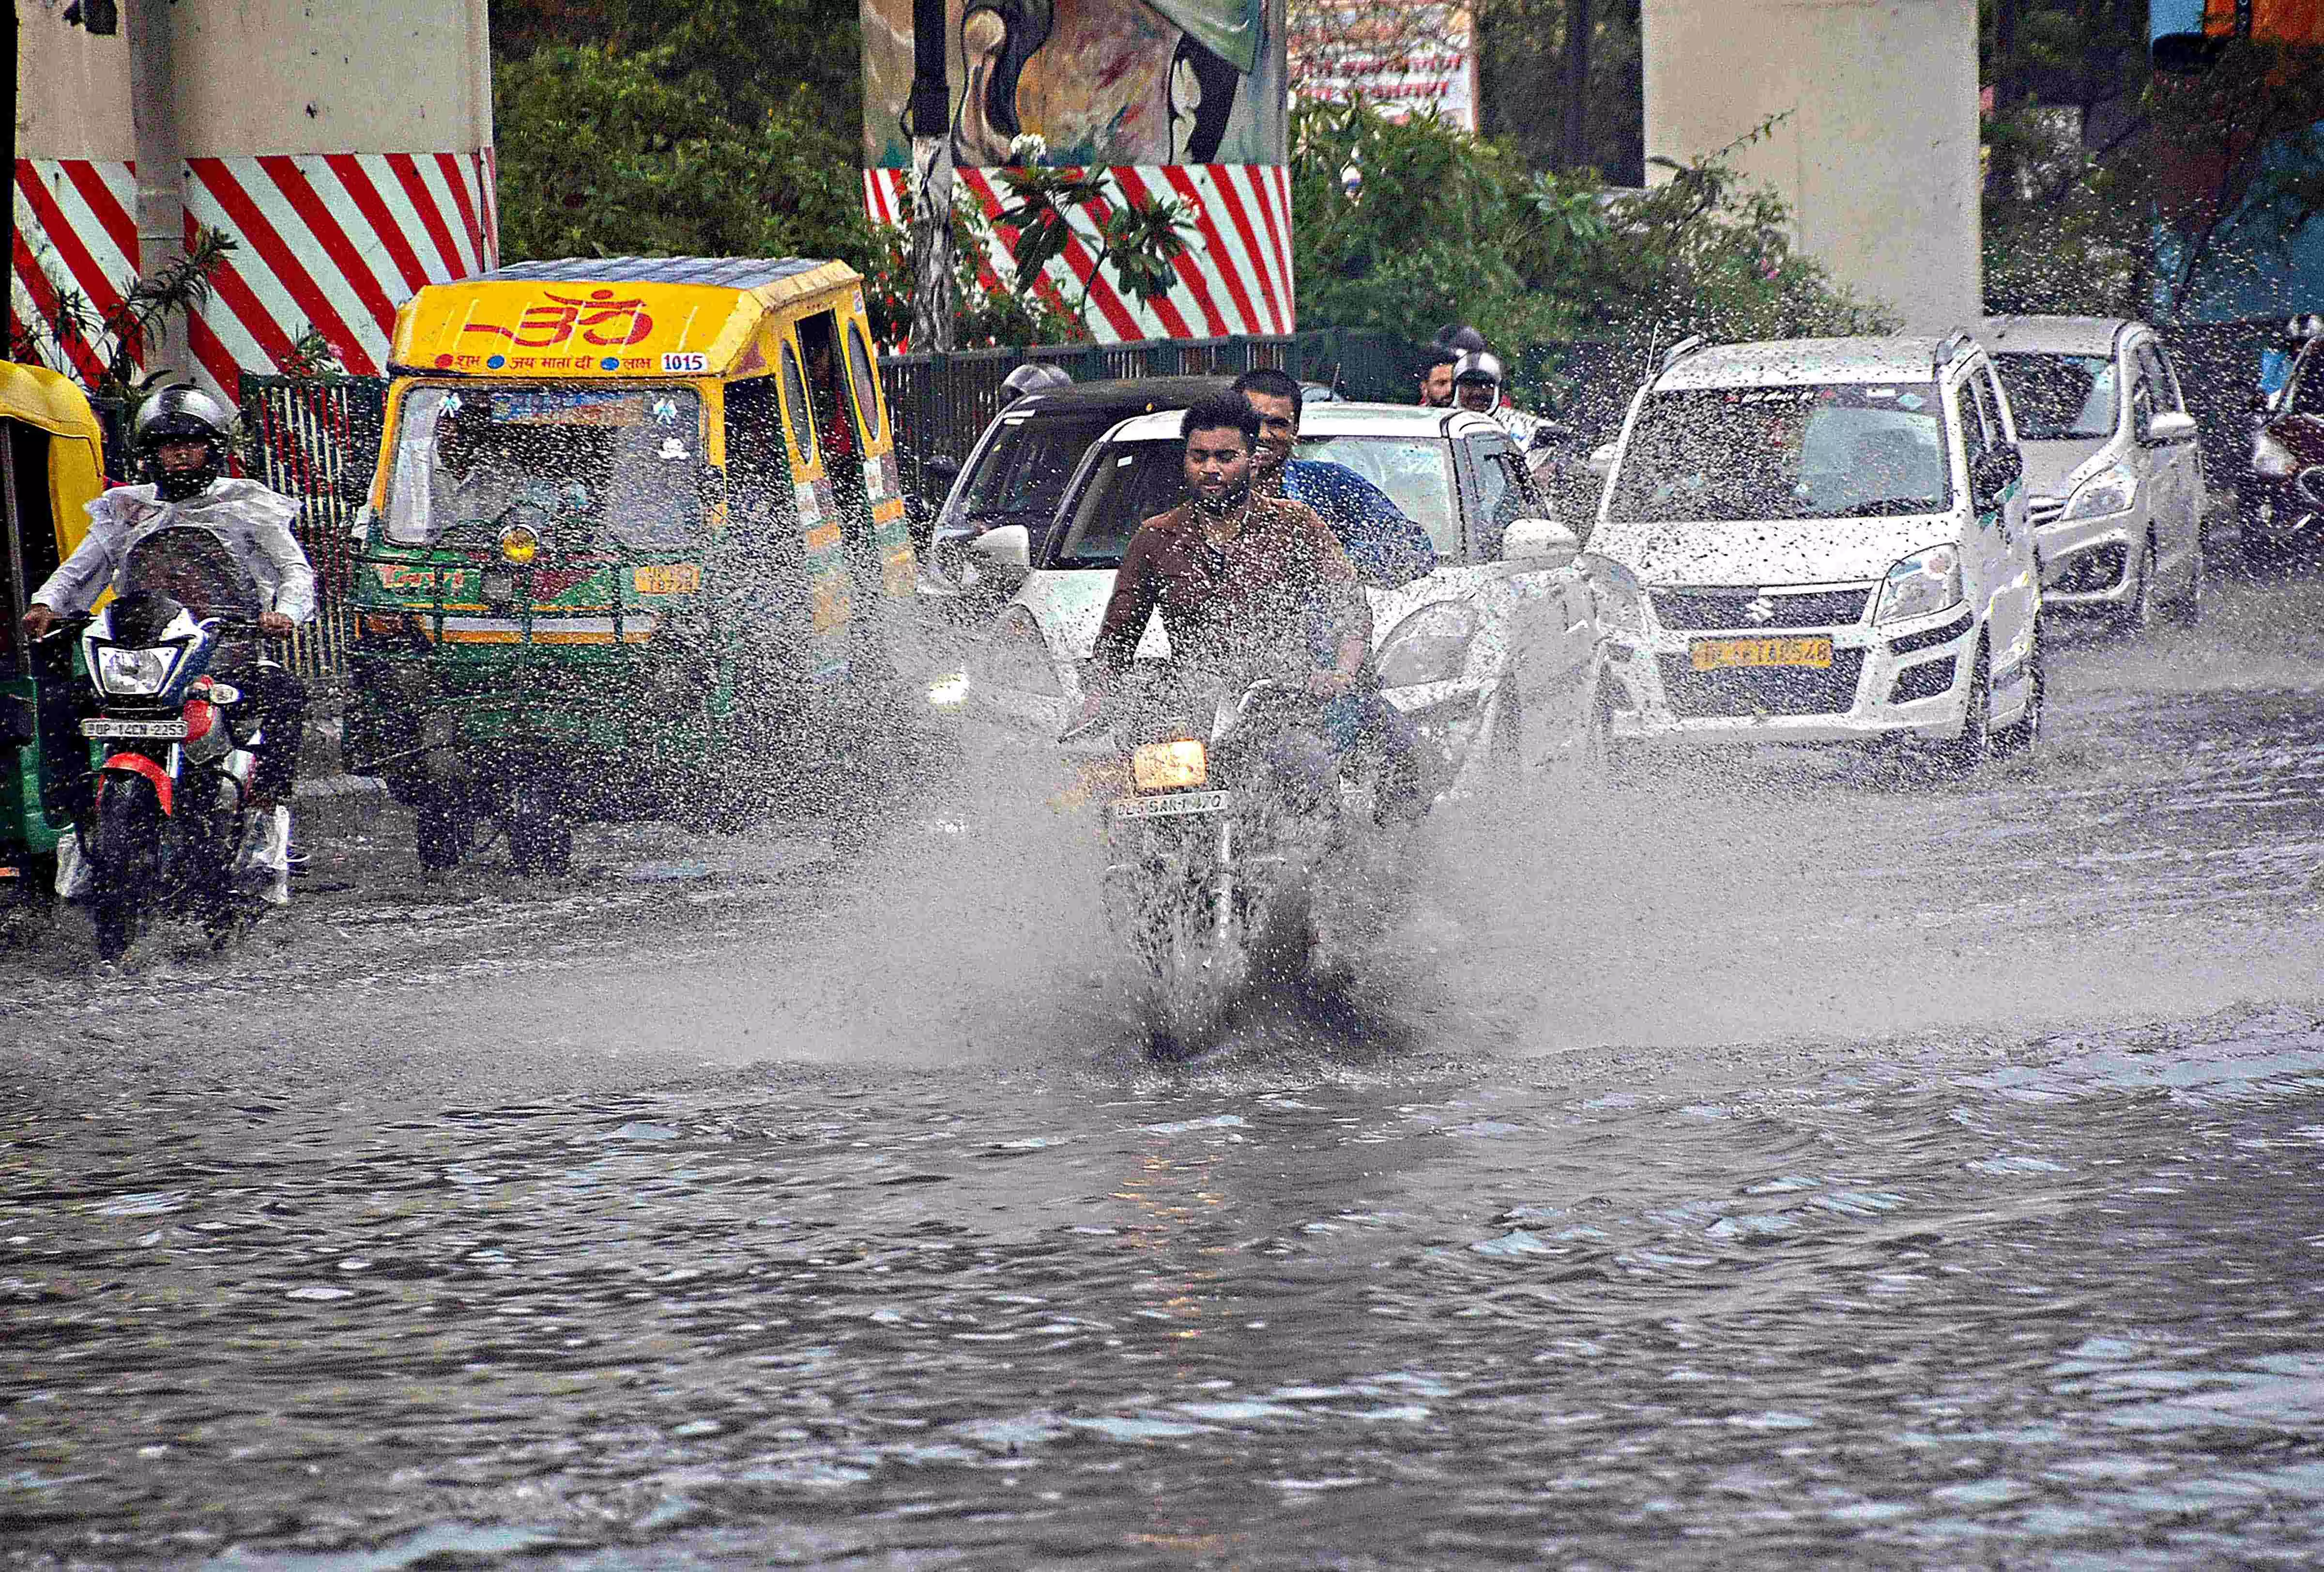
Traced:
<svg viewBox="0 0 2324 1572">
<path fill-rule="evenodd" d="M 19 158 L 12 326 L 53 330 L 60 291 L 116 307 L 137 279 L 135 214 L 128 163 Z M 497 263 L 493 149 L 188 158 L 188 244 L 195 226 L 237 244 L 188 326 L 202 381 L 235 400 L 239 372 L 284 370 L 307 328 L 349 372 L 376 377 L 395 307 Z M 74 358 L 93 381 L 95 358 Z"/>
</svg>

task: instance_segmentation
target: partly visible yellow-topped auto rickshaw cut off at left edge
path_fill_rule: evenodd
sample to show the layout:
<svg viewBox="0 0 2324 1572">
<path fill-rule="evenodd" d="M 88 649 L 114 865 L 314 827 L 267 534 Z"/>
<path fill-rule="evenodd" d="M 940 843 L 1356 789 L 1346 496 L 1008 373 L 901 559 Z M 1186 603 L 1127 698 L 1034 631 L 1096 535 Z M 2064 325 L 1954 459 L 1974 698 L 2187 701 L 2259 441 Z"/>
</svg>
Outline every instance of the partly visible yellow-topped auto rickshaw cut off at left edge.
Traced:
<svg viewBox="0 0 2324 1572">
<path fill-rule="evenodd" d="M 88 535 L 105 440 L 70 377 L 0 363 L 0 905 L 46 905 L 56 844 L 88 788 L 72 639 L 23 637 L 33 591 Z"/>
</svg>

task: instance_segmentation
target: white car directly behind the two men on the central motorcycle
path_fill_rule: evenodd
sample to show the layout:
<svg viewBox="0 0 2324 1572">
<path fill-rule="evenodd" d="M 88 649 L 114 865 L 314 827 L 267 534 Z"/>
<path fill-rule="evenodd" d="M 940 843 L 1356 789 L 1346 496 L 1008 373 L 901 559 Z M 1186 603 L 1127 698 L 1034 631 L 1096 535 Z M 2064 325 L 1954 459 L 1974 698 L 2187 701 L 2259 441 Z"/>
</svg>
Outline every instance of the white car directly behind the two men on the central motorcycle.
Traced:
<svg viewBox="0 0 2324 1572">
<path fill-rule="evenodd" d="M 957 702 L 1055 737 L 1081 705 L 1081 663 L 1141 519 L 1183 495 L 1181 412 L 1122 421 L 1090 449 L 1039 556 L 999 528 L 978 551 L 1020 574 Z M 1341 463 L 1385 491 L 1436 544 L 1432 574 L 1369 591 L 1385 695 L 1436 749 L 1439 779 L 1487 756 L 1585 760 L 1611 728 L 1599 705 L 1599 605 L 1634 593 L 1548 519 L 1522 453 L 1492 419 L 1404 405 L 1306 405 L 1294 460 Z M 1162 621 L 1141 658 L 1162 658 Z"/>
</svg>

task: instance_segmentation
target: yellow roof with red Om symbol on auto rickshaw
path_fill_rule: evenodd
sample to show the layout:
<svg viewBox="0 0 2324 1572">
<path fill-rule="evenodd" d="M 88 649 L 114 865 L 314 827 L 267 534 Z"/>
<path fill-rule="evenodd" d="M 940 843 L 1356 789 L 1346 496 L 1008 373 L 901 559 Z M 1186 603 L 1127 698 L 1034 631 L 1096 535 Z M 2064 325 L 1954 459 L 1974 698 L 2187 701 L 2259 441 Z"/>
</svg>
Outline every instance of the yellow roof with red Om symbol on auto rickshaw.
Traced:
<svg viewBox="0 0 2324 1572">
<path fill-rule="evenodd" d="M 767 316 L 853 291 L 846 263 L 579 256 L 430 284 L 395 314 L 400 372 L 453 377 L 753 377 Z"/>
</svg>

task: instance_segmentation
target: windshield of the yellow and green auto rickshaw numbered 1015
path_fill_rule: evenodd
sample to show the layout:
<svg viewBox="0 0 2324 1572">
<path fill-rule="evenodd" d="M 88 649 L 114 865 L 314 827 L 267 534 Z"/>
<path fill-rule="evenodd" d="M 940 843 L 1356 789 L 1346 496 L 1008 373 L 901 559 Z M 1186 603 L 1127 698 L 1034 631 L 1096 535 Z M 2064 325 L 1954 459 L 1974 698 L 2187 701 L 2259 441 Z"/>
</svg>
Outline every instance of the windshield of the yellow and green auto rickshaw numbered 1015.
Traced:
<svg viewBox="0 0 2324 1572">
<path fill-rule="evenodd" d="M 488 544 L 509 514 L 555 546 L 655 551 L 702 533 L 693 388 L 416 386 L 388 481 L 388 540 Z"/>
</svg>

